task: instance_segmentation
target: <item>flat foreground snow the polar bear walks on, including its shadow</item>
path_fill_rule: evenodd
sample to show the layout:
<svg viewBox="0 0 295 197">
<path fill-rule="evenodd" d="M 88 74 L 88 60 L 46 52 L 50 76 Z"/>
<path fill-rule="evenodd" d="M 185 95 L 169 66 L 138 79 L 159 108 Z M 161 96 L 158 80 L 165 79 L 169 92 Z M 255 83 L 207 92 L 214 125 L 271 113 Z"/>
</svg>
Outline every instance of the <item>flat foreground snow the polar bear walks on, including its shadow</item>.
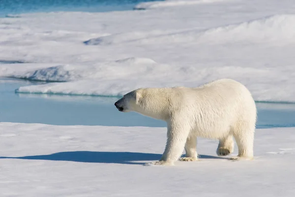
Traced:
<svg viewBox="0 0 295 197">
<path fill-rule="evenodd" d="M 175 166 L 144 165 L 161 157 L 165 128 L 0 123 L 0 131 L 2 197 L 295 193 L 295 128 L 258 129 L 253 161 L 218 158 L 218 142 L 199 139 L 201 161 Z"/>
</svg>

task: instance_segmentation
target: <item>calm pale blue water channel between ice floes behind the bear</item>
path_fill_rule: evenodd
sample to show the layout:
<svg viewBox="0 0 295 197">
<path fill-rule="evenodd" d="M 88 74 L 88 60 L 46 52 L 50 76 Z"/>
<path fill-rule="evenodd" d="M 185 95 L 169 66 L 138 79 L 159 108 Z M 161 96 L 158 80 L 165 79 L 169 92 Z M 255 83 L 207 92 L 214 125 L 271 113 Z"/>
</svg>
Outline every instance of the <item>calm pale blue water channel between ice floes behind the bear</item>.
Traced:
<svg viewBox="0 0 295 197">
<path fill-rule="evenodd" d="M 119 112 L 118 98 L 16 94 L 20 86 L 40 84 L 0 78 L 0 122 L 51 125 L 166 127 L 140 114 Z M 257 128 L 295 127 L 295 104 L 257 103 Z"/>
</svg>

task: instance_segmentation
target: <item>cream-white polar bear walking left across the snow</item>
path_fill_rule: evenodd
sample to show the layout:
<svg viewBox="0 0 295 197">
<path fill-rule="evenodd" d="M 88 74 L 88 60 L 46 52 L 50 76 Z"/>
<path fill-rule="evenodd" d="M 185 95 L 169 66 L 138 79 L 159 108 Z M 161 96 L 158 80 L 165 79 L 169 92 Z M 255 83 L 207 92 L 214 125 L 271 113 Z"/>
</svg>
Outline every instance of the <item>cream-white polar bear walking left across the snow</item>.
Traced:
<svg viewBox="0 0 295 197">
<path fill-rule="evenodd" d="M 248 89 L 235 80 L 220 79 L 196 88 L 137 89 L 115 106 L 167 122 L 165 151 L 160 161 L 151 164 L 198 160 L 197 137 L 218 139 L 218 156 L 234 151 L 234 137 L 238 155 L 230 159 L 253 159 L 256 105 Z M 183 148 L 185 157 L 180 158 Z"/>
</svg>

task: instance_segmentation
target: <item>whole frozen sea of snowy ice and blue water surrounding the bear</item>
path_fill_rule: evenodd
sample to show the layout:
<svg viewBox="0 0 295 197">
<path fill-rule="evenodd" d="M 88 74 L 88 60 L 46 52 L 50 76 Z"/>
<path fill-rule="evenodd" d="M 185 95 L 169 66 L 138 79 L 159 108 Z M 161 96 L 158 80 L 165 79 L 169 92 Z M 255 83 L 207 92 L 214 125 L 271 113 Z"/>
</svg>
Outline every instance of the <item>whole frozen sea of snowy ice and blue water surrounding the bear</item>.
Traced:
<svg viewBox="0 0 295 197">
<path fill-rule="evenodd" d="M 1 197 L 294 197 L 292 0 L 0 0 Z M 140 87 L 243 83 L 254 160 L 159 160 L 165 123 L 121 113 Z"/>
</svg>

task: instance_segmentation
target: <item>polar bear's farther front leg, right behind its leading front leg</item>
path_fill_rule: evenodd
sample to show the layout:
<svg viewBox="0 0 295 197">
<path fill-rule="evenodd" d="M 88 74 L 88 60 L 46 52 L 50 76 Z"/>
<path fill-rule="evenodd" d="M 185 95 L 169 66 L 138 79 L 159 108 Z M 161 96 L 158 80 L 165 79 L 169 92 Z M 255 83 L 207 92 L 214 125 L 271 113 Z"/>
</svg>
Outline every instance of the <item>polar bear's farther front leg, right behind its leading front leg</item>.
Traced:
<svg viewBox="0 0 295 197">
<path fill-rule="evenodd" d="M 197 136 L 189 136 L 186 139 L 184 146 L 185 157 L 179 159 L 179 161 L 192 162 L 198 160 L 197 154 Z"/>
</svg>

